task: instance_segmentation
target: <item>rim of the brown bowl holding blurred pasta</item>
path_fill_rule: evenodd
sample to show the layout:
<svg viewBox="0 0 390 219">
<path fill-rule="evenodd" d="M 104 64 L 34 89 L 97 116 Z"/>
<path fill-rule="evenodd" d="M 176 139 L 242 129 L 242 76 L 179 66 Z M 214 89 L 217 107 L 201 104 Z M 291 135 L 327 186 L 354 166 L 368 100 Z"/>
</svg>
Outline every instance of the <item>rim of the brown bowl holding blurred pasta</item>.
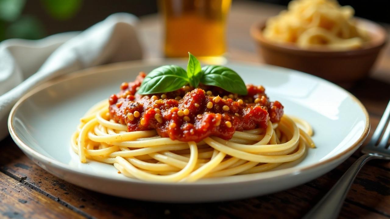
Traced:
<svg viewBox="0 0 390 219">
<path fill-rule="evenodd" d="M 379 37 L 376 37 L 377 39 L 374 41 L 370 41 L 371 43 L 363 46 L 362 48 L 359 49 L 353 49 L 353 50 L 332 50 L 329 48 L 311 48 L 311 49 L 305 49 L 305 48 L 300 48 L 298 46 L 295 46 L 294 44 L 288 44 L 288 43 L 278 43 L 278 42 L 272 42 L 269 41 L 264 37 L 262 34 L 265 26 L 266 26 L 266 21 L 267 19 L 263 19 L 261 21 L 257 21 L 250 27 L 250 35 L 252 38 L 258 42 L 261 46 L 273 49 L 273 50 L 278 50 L 278 51 L 283 51 L 286 53 L 294 53 L 294 54 L 301 54 L 301 55 L 321 55 L 321 56 L 349 56 L 349 55 L 364 55 L 367 53 L 372 53 L 375 51 L 378 51 L 379 49 L 383 48 L 385 44 L 388 41 L 388 34 L 386 29 L 382 26 L 379 25 L 378 23 L 374 21 L 370 21 L 368 19 L 364 18 L 358 18 L 355 17 L 357 23 L 360 23 L 361 25 L 365 26 L 371 26 L 370 29 L 374 29 L 375 31 L 371 31 L 371 35 L 373 33 L 379 34 Z"/>
</svg>

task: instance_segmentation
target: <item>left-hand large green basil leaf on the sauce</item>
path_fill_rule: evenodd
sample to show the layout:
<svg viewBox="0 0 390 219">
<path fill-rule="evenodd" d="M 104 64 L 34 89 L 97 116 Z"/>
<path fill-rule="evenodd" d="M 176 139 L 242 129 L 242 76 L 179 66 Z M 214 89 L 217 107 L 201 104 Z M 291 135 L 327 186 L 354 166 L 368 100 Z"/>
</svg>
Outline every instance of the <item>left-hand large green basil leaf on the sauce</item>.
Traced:
<svg viewBox="0 0 390 219">
<path fill-rule="evenodd" d="M 186 71 L 177 65 L 164 65 L 151 71 L 138 94 L 156 94 L 177 90 L 189 83 Z"/>
</svg>

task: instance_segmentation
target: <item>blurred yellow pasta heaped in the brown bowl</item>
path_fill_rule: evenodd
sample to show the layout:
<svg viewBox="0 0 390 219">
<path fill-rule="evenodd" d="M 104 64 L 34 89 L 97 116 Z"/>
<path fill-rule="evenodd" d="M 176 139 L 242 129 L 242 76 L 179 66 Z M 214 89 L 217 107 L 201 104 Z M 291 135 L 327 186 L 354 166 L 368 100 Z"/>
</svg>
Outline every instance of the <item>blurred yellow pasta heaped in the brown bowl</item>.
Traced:
<svg viewBox="0 0 390 219">
<path fill-rule="evenodd" d="M 362 48 L 370 37 L 356 26 L 354 13 L 351 6 L 341 7 L 333 0 L 296 0 L 287 11 L 267 20 L 263 35 L 270 41 L 294 43 L 301 48 Z"/>
</svg>

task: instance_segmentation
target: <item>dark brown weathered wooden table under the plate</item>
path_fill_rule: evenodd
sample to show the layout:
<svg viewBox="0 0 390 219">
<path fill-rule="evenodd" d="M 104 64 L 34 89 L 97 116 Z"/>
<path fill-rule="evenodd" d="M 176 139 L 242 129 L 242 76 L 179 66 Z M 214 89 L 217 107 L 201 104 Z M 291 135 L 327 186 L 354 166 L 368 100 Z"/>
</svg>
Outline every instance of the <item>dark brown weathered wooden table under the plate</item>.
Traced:
<svg viewBox="0 0 390 219">
<path fill-rule="evenodd" d="M 234 2 L 227 35 L 228 58 L 258 62 L 249 27 L 280 9 L 274 5 Z M 156 15 L 141 19 L 140 34 L 145 57 L 161 57 L 161 24 Z M 389 83 L 387 47 L 371 78 L 349 89 L 369 111 L 372 130 L 390 99 Z M 300 218 L 359 155 L 356 152 L 322 177 L 279 193 L 220 203 L 166 204 L 116 198 L 69 184 L 35 165 L 8 137 L 0 142 L 0 218 Z M 389 162 L 369 162 L 352 185 L 340 218 L 390 218 L 389 170 Z"/>
</svg>

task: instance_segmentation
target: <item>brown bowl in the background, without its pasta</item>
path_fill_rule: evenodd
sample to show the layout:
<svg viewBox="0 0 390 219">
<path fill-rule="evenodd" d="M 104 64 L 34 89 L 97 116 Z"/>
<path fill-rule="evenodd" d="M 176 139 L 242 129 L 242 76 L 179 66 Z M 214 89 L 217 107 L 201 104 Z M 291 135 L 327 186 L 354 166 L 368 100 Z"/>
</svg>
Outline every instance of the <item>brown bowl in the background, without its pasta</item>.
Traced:
<svg viewBox="0 0 390 219">
<path fill-rule="evenodd" d="M 372 21 L 359 18 L 357 25 L 369 32 L 371 40 L 363 48 L 348 51 L 303 49 L 269 41 L 262 35 L 265 22 L 254 24 L 250 32 L 267 64 L 307 72 L 336 83 L 350 83 L 368 75 L 387 39 L 386 30 Z"/>
</svg>

